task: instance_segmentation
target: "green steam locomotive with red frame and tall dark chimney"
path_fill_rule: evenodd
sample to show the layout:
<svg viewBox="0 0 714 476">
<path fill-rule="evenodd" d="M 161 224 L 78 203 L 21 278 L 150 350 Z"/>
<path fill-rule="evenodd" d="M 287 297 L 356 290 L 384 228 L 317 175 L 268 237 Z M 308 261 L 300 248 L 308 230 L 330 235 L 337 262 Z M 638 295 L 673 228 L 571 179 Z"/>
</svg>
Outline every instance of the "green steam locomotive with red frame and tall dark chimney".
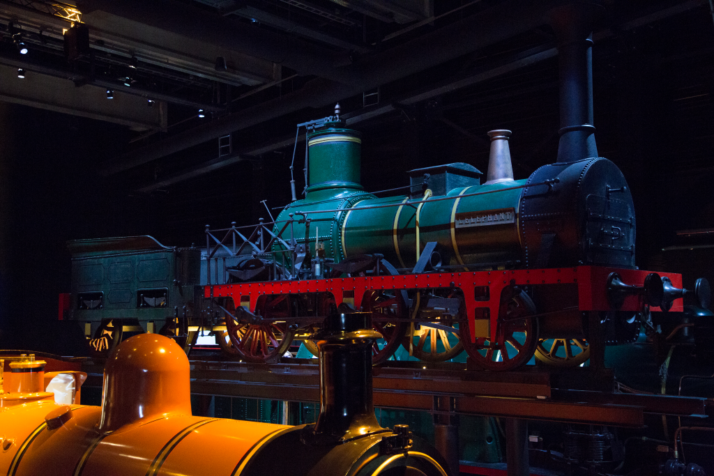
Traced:
<svg viewBox="0 0 714 476">
<path fill-rule="evenodd" d="M 511 370 L 534 353 L 580 365 L 591 344 L 601 362 L 605 343 L 637 337 L 647 310 L 683 310 L 681 275 L 635 267 L 630 189 L 618 167 L 598 156 L 590 51 L 597 9 L 573 2 L 551 15 L 560 59 L 555 163 L 514 180 L 510 131 L 491 131 L 484 183 L 473 166 L 450 163 L 413 170 L 408 194 L 378 198 L 359 183 L 361 135 L 336 108 L 298 126 L 307 131 L 304 198 L 296 199 L 293 181 L 293 202 L 274 221 L 207 227 L 201 282 L 151 288 L 166 289 L 164 302 L 174 306 L 157 313 L 166 319 L 164 333 L 190 340 L 191 329 L 210 328 L 229 353 L 273 361 L 293 338 L 316 353 L 309 335 L 344 303 L 372 313 L 382 335 L 375 363 L 403 345 L 422 360 L 466 350 L 477 367 Z M 185 256 L 198 260 L 191 250 Z M 111 286 L 107 280 L 101 285 Z M 202 297 L 191 285 L 203 285 Z M 136 293 L 141 307 L 149 301 L 138 289 L 126 295 Z M 708 283 L 698 281 L 695 292 L 706 307 Z M 174 303 L 177 293 L 186 303 Z M 144 312 L 134 311 L 124 317 Z M 225 327 L 216 326 L 216 311 Z M 80 314 L 98 321 L 99 313 Z M 147 323 L 139 319 L 142 328 Z M 106 325 L 91 330 L 101 338 Z"/>
</svg>

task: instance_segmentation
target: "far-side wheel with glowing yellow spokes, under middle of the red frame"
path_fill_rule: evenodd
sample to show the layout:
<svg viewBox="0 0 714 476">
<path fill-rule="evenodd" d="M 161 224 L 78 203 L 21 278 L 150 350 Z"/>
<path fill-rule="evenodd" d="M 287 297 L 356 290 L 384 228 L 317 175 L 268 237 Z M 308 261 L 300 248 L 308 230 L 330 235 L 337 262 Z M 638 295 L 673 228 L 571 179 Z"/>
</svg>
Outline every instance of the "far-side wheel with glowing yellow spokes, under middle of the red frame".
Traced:
<svg viewBox="0 0 714 476">
<path fill-rule="evenodd" d="M 441 298 L 416 294 L 413 315 L 419 320 L 419 328 L 410 324 L 402 343 L 410 355 L 424 362 L 444 362 L 461 353 L 461 302 L 461 298 L 453 295 Z"/>
</svg>

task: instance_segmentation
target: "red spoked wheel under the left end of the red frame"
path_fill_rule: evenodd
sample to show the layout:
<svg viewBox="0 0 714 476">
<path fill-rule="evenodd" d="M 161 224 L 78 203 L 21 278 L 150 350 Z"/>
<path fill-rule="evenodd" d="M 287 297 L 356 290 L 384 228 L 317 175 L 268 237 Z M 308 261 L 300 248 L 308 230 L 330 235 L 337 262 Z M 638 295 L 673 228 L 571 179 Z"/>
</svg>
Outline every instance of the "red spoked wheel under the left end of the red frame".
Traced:
<svg viewBox="0 0 714 476">
<path fill-rule="evenodd" d="M 266 323 L 241 323 L 226 316 L 228 338 L 241 359 L 253 363 L 275 362 L 286 353 L 295 331 L 286 321 L 293 315 L 290 295 L 266 296 L 258 303 L 258 314 Z"/>
</svg>

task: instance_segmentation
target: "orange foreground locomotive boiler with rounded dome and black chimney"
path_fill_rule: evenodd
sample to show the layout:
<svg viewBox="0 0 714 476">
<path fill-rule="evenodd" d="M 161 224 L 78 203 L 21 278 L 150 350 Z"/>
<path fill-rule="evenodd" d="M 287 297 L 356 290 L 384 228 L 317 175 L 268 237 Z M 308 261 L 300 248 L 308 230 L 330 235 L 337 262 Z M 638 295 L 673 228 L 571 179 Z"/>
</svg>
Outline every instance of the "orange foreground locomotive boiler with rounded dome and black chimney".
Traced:
<svg viewBox="0 0 714 476">
<path fill-rule="evenodd" d="M 296 427 L 194 417 L 186 354 L 169 338 L 136 335 L 106 362 L 101 407 L 38 391 L 29 393 L 42 398 L 0 407 L 0 474 L 448 476 L 441 455 L 406 425 L 379 426 L 370 320 L 334 315 L 315 336 L 321 414 Z"/>
</svg>

